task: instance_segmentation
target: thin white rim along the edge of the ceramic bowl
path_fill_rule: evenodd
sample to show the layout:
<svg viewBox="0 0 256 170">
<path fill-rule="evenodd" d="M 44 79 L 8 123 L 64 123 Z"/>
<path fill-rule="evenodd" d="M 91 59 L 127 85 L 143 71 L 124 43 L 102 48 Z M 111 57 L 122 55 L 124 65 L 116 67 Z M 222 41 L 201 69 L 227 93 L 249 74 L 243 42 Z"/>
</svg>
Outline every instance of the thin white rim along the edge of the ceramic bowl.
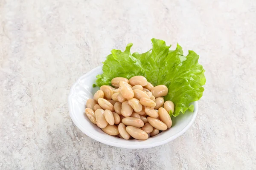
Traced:
<svg viewBox="0 0 256 170">
<path fill-rule="evenodd" d="M 76 82 L 72 85 L 72 87 L 70 88 L 70 93 L 68 95 L 68 110 L 70 113 L 70 117 L 73 121 L 73 123 L 79 128 L 79 130 L 81 130 L 84 134 L 86 134 L 87 136 L 89 136 L 90 138 L 101 142 L 103 144 L 107 144 L 107 145 L 111 145 L 114 147 L 121 147 L 121 148 L 127 148 L 127 149 L 144 149 L 144 148 L 150 148 L 150 147 L 156 147 L 156 146 L 160 146 L 163 144 L 166 144 L 174 139 L 176 139 L 177 137 L 181 136 L 183 133 L 186 132 L 186 130 L 189 129 L 189 127 L 191 127 L 191 125 L 193 124 L 193 122 L 195 122 L 195 118 L 197 116 L 198 113 L 198 101 L 194 102 L 194 111 L 193 111 L 193 115 L 192 118 L 190 119 L 189 123 L 179 132 L 175 133 L 175 135 L 170 136 L 169 138 L 165 139 L 165 140 L 161 140 L 161 141 L 157 141 L 157 142 L 153 142 L 151 144 L 123 144 L 123 143 L 117 143 L 117 142 L 111 142 L 111 141 L 107 141 L 104 140 L 96 135 L 94 135 L 93 133 L 89 133 L 88 131 L 84 130 L 84 128 L 81 127 L 81 125 L 78 123 L 78 121 L 76 120 L 75 114 L 73 114 L 72 112 L 72 104 L 71 104 L 71 96 L 73 95 L 73 91 L 74 88 L 76 87 L 76 85 L 80 82 L 81 79 L 83 79 L 83 77 L 91 74 L 92 72 L 94 72 L 95 70 L 102 68 L 102 65 L 93 68 L 92 70 L 90 70 L 89 72 L 87 72 L 86 74 L 82 75 L 81 77 L 79 77 Z"/>
</svg>

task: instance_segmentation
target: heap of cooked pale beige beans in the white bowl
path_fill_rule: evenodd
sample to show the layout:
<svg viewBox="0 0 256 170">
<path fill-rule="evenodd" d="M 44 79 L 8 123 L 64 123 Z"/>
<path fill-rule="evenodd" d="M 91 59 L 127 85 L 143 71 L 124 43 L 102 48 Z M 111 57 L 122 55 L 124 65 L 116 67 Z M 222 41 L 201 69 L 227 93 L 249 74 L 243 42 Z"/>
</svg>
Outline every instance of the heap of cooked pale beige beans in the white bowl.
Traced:
<svg viewBox="0 0 256 170">
<path fill-rule="evenodd" d="M 116 77 L 113 87 L 102 85 L 93 99 L 88 99 L 85 114 L 105 133 L 123 139 L 145 140 L 172 126 L 169 111 L 172 101 L 164 102 L 168 94 L 165 85 L 153 86 L 143 76 L 131 79 Z"/>
</svg>

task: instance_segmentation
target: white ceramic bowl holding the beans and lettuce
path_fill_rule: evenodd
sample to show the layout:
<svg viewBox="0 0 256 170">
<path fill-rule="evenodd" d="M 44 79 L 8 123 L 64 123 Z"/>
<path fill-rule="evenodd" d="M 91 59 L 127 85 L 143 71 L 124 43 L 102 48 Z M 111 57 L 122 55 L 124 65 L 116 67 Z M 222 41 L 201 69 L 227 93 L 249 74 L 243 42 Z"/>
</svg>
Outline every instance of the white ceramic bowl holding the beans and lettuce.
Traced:
<svg viewBox="0 0 256 170">
<path fill-rule="evenodd" d="M 84 115 L 87 99 L 93 98 L 93 94 L 99 90 L 98 87 L 93 88 L 93 83 L 95 83 L 96 75 L 98 74 L 102 74 L 102 66 L 96 67 L 80 77 L 72 86 L 68 96 L 68 109 L 71 119 L 84 134 L 98 142 L 130 149 L 156 147 L 176 139 L 188 130 L 195 121 L 198 112 L 198 102 L 192 103 L 195 106 L 193 113 L 187 112 L 186 114 L 180 114 L 177 117 L 173 117 L 173 124 L 170 129 L 150 137 L 145 141 L 125 140 L 110 136 L 90 122 L 87 116 Z"/>
</svg>

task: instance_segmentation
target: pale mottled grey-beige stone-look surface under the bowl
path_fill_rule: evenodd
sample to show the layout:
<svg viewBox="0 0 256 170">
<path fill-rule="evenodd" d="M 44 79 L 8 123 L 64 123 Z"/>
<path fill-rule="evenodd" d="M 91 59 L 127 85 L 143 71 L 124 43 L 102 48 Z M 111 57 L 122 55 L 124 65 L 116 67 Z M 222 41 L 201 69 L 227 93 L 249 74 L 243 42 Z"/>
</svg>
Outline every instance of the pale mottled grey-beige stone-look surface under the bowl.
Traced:
<svg viewBox="0 0 256 170">
<path fill-rule="evenodd" d="M 255 0 L 0 0 L 1 170 L 253 170 L 256 168 Z M 67 95 L 111 49 L 152 37 L 200 55 L 198 117 L 160 147 L 90 139 Z"/>
</svg>

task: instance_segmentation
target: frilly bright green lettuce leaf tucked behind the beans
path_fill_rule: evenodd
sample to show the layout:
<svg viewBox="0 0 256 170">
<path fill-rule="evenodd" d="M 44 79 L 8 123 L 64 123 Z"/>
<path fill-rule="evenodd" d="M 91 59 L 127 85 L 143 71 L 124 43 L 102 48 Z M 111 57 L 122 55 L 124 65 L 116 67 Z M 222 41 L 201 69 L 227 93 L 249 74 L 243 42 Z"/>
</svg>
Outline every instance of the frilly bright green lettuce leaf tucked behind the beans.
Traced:
<svg viewBox="0 0 256 170">
<path fill-rule="evenodd" d="M 132 44 L 128 44 L 125 51 L 112 50 L 103 62 L 103 74 L 97 76 L 96 85 L 111 85 L 114 77 L 141 75 L 148 82 L 155 85 L 166 85 L 169 89 L 165 96 L 175 104 L 174 113 L 177 116 L 185 111 L 193 111 L 191 102 L 203 96 L 205 82 L 204 68 L 198 63 L 199 56 L 194 51 L 189 51 L 183 56 L 182 48 L 177 44 L 174 51 L 170 51 L 163 40 L 152 39 L 153 48 L 143 54 L 131 54 Z"/>
</svg>

